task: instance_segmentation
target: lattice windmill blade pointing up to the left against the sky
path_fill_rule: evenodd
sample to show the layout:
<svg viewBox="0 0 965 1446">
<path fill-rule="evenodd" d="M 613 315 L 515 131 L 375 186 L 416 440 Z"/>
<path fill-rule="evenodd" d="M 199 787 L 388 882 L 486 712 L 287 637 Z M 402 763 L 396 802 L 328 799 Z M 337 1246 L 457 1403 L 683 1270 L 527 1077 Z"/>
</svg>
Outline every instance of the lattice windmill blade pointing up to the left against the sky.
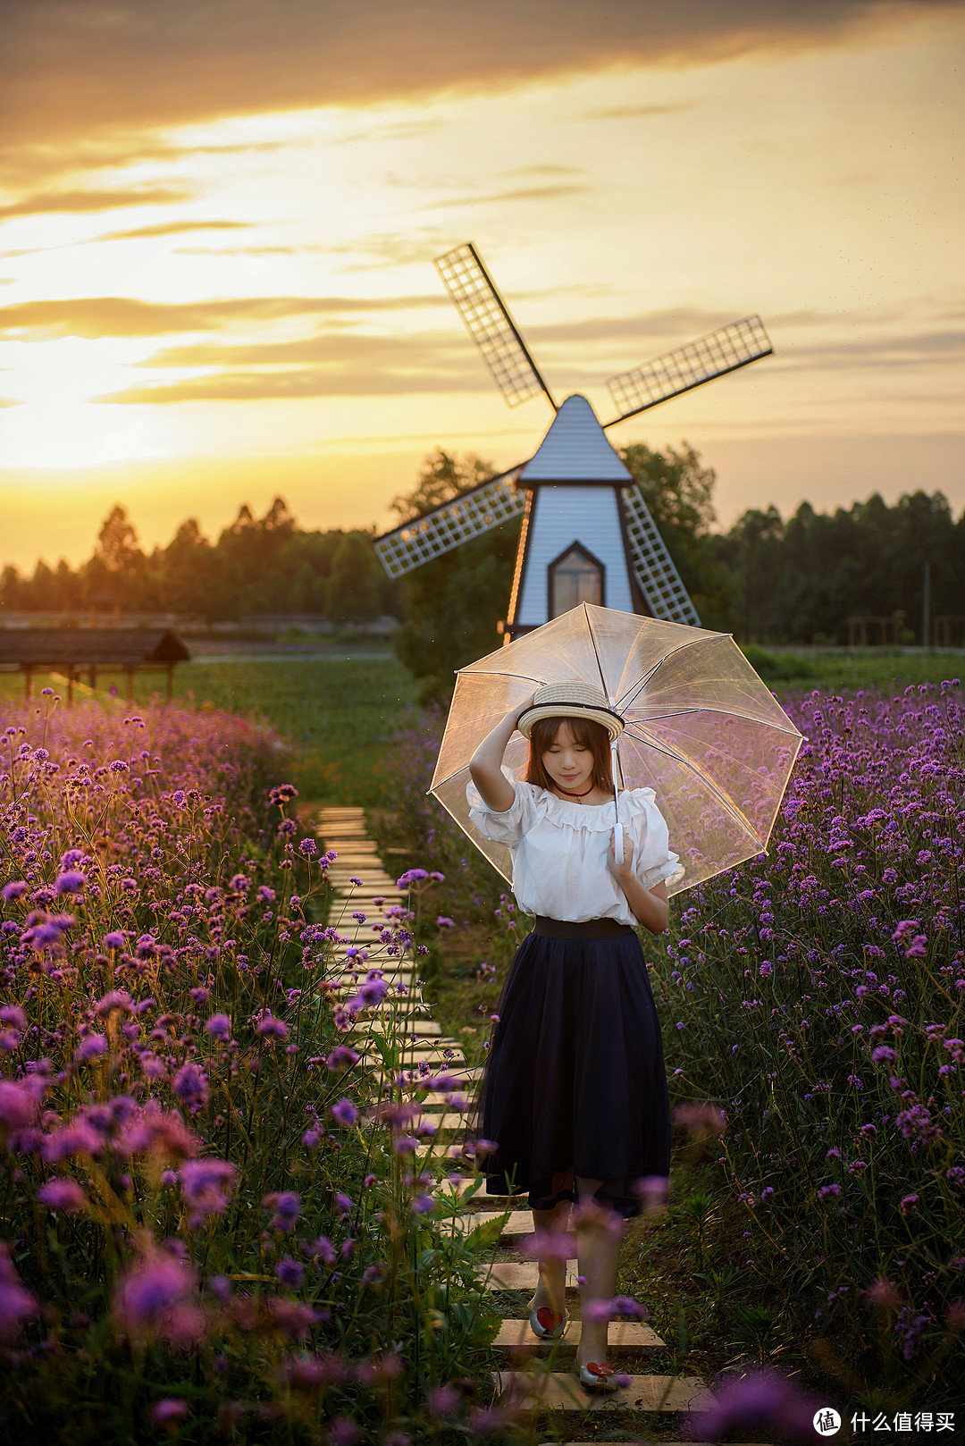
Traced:
<svg viewBox="0 0 965 1446">
<path fill-rule="evenodd" d="M 473 243 L 467 241 L 446 252 L 444 256 L 437 256 L 433 265 L 509 406 L 518 406 L 537 392 L 545 392 L 550 406 L 556 411 L 553 393 L 527 351 L 516 324 Z"/>
</svg>

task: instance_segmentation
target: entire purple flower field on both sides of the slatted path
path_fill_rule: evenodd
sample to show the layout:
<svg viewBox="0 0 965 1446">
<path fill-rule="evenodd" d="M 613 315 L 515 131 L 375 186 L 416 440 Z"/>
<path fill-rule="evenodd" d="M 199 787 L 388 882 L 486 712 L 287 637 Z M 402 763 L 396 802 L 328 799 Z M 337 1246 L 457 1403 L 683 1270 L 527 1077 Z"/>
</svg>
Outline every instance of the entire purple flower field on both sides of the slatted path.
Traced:
<svg viewBox="0 0 965 1446">
<path fill-rule="evenodd" d="M 647 941 L 676 1119 L 713 1177 L 700 1268 L 767 1301 L 809 1384 L 955 1408 L 961 690 L 784 703 L 807 742 L 768 855 Z M 401 910 L 369 967 L 421 954 L 440 979 L 467 918 L 496 986 L 525 923 L 424 797 L 440 722 L 396 737 L 375 816 L 433 870 L 433 950 Z M 372 1035 L 388 1086 L 352 1048 L 353 1006 L 391 995 L 334 991 L 331 860 L 291 817 L 286 748 L 211 709 L 51 698 L 7 704 L 0 736 L 4 1437 L 522 1439 L 486 1401 L 492 1231 L 453 1231 L 460 1176 L 412 1124 L 457 1082 L 396 1073 L 394 1027 Z M 741 1238 L 705 1261 L 722 1202 Z"/>
</svg>

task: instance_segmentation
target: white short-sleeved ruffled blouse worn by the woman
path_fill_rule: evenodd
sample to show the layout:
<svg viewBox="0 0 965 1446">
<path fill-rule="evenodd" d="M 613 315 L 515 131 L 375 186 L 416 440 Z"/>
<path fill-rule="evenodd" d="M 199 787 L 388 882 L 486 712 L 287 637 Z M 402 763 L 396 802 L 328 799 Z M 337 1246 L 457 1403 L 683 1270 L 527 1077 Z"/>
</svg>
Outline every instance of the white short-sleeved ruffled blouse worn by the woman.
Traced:
<svg viewBox="0 0 965 1446">
<path fill-rule="evenodd" d="M 512 892 L 524 914 L 579 924 L 613 918 L 637 927 L 626 895 L 609 870 L 613 800 L 579 804 L 514 778 L 503 766 L 515 798 L 502 813 L 489 808 L 476 785 L 466 785 L 469 818 L 486 839 L 512 853 Z M 652 788 L 619 794 L 619 817 L 634 840 L 632 869 L 647 886 L 676 884 L 684 869 L 670 852 L 667 824 Z"/>
</svg>

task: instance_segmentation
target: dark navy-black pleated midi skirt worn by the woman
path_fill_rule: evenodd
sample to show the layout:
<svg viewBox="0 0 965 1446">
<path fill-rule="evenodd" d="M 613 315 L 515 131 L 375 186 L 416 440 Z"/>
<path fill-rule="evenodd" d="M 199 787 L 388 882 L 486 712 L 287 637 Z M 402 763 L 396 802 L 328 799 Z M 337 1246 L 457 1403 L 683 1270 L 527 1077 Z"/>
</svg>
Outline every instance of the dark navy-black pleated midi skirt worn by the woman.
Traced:
<svg viewBox="0 0 965 1446">
<path fill-rule="evenodd" d="M 602 1180 L 598 1203 L 639 1215 L 634 1189 L 670 1176 L 670 1099 L 644 951 L 612 920 L 537 920 L 509 966 L 466 1142 L 488 1194 L 528 1194 L 532 1210 L 577 1200 L 576 1176 Z M 512 1186 L 512 1192 L 511 1192 Z"/>
</svg>

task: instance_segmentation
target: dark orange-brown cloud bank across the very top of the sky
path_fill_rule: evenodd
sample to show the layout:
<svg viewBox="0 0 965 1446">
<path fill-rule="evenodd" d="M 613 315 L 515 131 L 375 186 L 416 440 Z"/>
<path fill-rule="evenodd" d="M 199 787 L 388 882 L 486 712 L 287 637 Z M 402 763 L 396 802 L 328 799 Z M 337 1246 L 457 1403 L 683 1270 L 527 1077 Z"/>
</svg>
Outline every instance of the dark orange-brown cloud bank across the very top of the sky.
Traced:
<svg viewBox="0 0 965 1446">
<path fill-rule="evenodd" d="M 839 43 L 961 0 L 20 0 L 0 56 L 25 143 Z M 42 159 L 42 158 L 38 158 Z"/>
</svg>

